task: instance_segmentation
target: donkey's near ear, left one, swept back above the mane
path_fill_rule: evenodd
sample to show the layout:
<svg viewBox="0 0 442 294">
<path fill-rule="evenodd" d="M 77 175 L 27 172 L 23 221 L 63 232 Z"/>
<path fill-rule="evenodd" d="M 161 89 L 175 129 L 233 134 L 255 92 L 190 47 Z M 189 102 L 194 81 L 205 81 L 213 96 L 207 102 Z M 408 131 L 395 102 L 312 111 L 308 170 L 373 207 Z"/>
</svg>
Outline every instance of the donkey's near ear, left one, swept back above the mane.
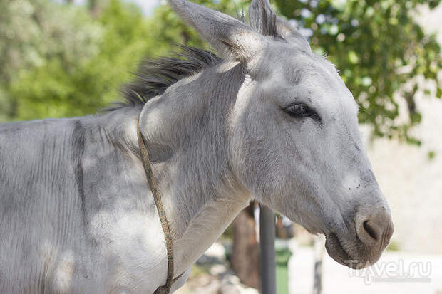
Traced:
<svg viewBox="0 0 442 294">
<path fill-rule="evenodd" d="M 262 50 L 265 38 L 226 14 L 187 0 L 168 0 L 173 10 L 225 57 L 247 62 Z"/>
</svg>

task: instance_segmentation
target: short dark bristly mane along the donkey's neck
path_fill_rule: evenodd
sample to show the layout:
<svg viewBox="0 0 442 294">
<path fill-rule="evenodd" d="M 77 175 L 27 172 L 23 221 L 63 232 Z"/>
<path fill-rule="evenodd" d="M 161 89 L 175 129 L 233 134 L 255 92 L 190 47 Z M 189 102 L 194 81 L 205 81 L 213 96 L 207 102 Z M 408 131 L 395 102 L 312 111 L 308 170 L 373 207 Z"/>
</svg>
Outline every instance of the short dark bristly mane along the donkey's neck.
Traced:
<svg viewBox="0 0 442 294">
<path fill-rule="evenodd" d="M 146 59 L 138 66 L 133 82 L 124 85 L 123 101 L 114 103 L 108 110 L 126 106 L 144 105 L 150 98 L 161 95 L 174 83 L 222 62 L 210 51 L 177 45 L 180 50 L 173 57 Z"/>
</svg>

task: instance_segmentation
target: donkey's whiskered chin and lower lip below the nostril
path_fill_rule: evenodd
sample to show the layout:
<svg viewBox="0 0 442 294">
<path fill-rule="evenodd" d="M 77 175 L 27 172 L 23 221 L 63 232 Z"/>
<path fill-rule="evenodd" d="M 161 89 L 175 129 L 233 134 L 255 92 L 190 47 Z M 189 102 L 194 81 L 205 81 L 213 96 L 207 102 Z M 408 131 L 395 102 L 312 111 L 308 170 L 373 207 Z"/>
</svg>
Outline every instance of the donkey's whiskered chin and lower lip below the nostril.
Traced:
<svg viewBox="0 0 442 294">
<path fill-rule="evenodd" d="M 369 248 L 361 248 L 361 246 L 343 246 L 335 233 L 326 234 L 325 248 L 335 261 L 354 269 L 371 266 L 379 260 L 382 253 L 382 250 L 373 252 Z"/>
</svg>

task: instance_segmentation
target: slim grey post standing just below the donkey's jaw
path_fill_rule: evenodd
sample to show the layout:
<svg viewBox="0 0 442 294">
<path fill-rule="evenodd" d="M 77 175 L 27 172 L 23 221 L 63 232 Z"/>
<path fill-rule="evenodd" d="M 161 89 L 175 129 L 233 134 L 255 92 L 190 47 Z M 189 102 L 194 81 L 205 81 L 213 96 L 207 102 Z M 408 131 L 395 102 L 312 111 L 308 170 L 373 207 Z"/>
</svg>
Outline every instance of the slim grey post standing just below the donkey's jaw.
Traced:
<svg viewBox="0 0 442 294">
<path fill-rule="evenodd" d="M 274 212 L 261 204 L 259 214 L 259 238 L 261 243 L 262 294 L 276 294 L 276 261 L 274 252 Z"/>
</svg>

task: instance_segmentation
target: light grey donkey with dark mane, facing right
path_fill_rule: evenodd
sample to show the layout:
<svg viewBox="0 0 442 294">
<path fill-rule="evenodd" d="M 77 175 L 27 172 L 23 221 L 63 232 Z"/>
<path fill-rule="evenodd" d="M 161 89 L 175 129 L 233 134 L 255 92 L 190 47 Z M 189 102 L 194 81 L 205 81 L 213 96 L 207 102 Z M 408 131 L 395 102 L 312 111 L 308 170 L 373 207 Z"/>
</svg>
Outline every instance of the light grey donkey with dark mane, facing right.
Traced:
<svg viewBox="0 0 442 294">
<path fill-rule="evenodd" d="M 252 198 L 326 236 L 339 263 L 375 263 L 393 232 L 358 105 L 334 66 L 272 11 L 250 26 L 169 0 L 222 57 L 150 61 L 108 112 L 0 126 L 0 292 L 153 293 L 166 244 L 138 147 L 163 194 L 175 277 Z M 185 57 L 185 58 L 183 58 Z"/>
</svg>

